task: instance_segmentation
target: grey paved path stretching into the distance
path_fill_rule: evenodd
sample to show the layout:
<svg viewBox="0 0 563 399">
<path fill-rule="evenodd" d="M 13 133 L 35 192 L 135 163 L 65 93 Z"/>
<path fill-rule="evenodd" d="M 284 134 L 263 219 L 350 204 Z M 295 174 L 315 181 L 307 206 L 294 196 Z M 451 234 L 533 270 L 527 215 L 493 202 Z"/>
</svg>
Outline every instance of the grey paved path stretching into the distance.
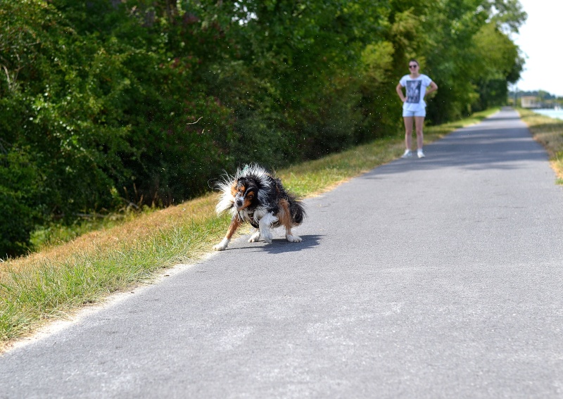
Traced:
<svg viewBox="0 0 563 399">
<path fill-rule="evenodd" d="M 425 152 L 11 350 L 0 398 L 562 398 L 545 152 L 511 110 Z"/>
</svg>

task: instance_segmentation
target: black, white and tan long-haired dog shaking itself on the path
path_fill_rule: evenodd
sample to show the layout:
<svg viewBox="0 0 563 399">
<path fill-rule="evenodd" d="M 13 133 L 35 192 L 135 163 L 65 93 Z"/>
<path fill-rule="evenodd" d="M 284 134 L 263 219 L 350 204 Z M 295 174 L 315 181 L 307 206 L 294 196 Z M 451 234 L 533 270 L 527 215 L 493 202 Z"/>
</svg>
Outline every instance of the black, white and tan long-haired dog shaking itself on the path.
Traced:
<svg viewBox="0 0 563 399">
<path fill-rule="evenodd" d="M 232 214 L 232 220 L 224 239 L 213 246 L 216 251 L 227 248 L 234 232 L 244 222 L 256 229 L 248 240 L 251 243 L 260 239 L 271 243 L 270 228 L 280 226 L 286 229 L 287 241 L 303 241 L 300 236 L 291 233 L 291 227 L 303 222 L 303 203 L 286 191 L 281 180 L 272 176 L 264 167 L 251 164 L 242 170 L 236 170 L 234 177 L 225 174 L 222 182 L 217 184 L 217 189 L 220 195 L 215 211 L 217 215 L 221 215 L 228 210 Z"/>
</svg>

